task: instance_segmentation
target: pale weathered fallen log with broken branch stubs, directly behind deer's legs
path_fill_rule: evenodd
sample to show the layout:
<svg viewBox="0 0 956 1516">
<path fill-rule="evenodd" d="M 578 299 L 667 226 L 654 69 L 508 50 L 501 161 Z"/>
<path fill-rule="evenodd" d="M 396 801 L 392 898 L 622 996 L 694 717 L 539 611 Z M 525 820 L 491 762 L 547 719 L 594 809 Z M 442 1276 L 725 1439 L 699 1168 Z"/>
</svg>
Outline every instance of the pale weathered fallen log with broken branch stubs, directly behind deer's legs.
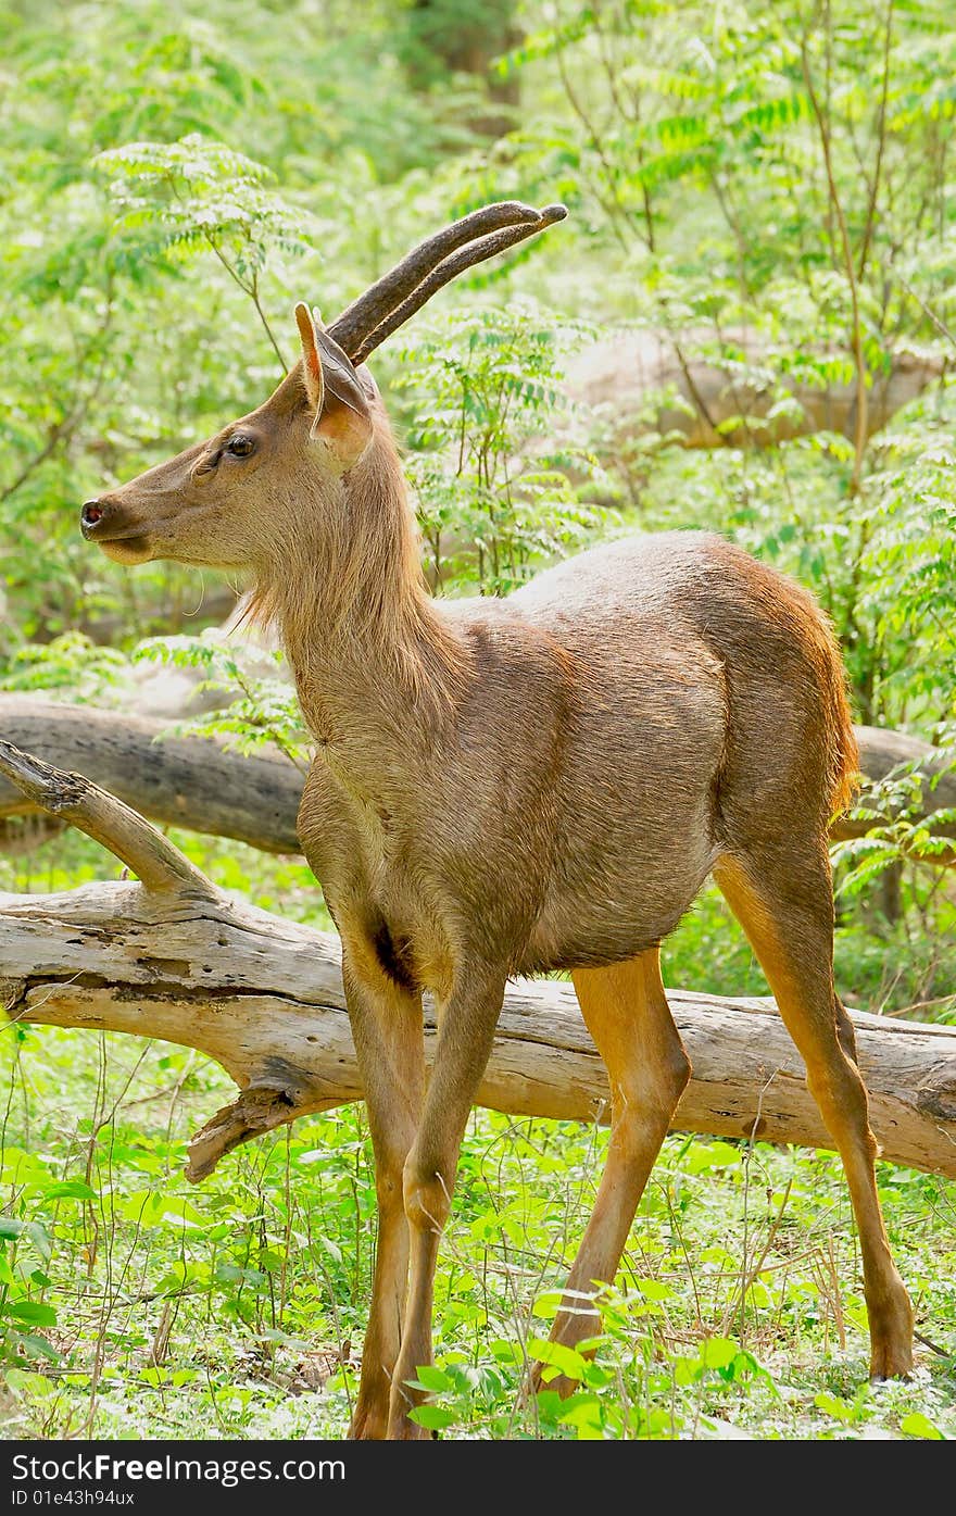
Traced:
<svg viewBox="0 0 956 1516">
<path fill-rule="evenodd" d="M 111 847 L 141 882 L 0 896 L 0 994 L 18 1022 L 159 1037 L 215 1058 L 239 1096 L 194 1139 L 202 1179 L 241 1142 L 362 1098 L 338 940 L 239 905 L 142 817 L 0 743 L 35 805 Z M 773 1001 L 668 991 L 694 1073 L 674 1129 L 830 1146 Z M 956 1029 L 853 1013 L 883 1155 L 956 1176 Z M 427 1055 L 435 1046 L 426 1008 Z M 518 981 L 479 1104 L 601 1122 L 605 1066 L 570 984 Z"/>
</svg>

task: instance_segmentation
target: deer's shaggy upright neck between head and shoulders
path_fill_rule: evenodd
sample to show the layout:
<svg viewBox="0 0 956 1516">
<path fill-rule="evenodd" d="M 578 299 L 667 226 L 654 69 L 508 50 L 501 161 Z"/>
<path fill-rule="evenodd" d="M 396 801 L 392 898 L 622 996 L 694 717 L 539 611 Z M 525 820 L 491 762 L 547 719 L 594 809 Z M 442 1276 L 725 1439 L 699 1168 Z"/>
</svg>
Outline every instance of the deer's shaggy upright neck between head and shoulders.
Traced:
<svg viewBox="0 0 956 1516">
<path fill-rule="evenodd" d="M 453 722 L 468 653 L 424 585 L 391 440 L 370 453 L 332 509 L 300 517 L 256 599 L 279 623 L 320 744 L 374 772 L 379 743 L 401 737 L 411 753 Z"/>
</svg>

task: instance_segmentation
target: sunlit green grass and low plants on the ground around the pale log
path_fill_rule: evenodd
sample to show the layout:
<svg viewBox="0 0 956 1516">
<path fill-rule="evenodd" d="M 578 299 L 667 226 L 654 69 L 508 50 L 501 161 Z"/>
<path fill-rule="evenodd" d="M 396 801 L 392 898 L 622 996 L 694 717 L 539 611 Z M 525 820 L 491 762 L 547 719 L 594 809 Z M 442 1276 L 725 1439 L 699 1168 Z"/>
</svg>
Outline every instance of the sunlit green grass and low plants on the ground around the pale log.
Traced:
<svg viewBox="0 0 956 1516">
<path fill-rule="evenodd" d="M 180 841 L 220 884 L 324 925 L 301 866 Z M 67 837 L 8 864 L 0 882 L 44 890 L 106 875 L 112 860 Z M 841 952 L 868 976 L 865 1004 L 886 964 L 873 934 L 856 957 L 854 938 L 847 929 Z M 765 993 L 712 896 L 667 961 L 674 984 Z M 936 964 L 936 978 L 951 982 L 950 969 Z M 914 985 L 897 993 L 904 1004 Z M 3 1046 L 5 1436 L 342 1436 L 374 1258 L 364 1108 L 241 1148 L 194 1189 L 186 1142 L 233 1093 L 218 1066 L 50 1028 L 8 1028 Z M 556 1357 L 577 1392 L 524 1404 L 524 1366 L 547 1337 L 606 1140 L 595 1126 L 474 1113 L 436 1281 L 427 1414 L 442 1436 L 956 1436 L 956 1186 L 879 1167 L 894 1252 L 935 1348 L 920 1345 L 912 1381 L 870 1386 L 839 1163 L 679 1135 L 655 1167 L 594 1360 Z"/>
</svg>

